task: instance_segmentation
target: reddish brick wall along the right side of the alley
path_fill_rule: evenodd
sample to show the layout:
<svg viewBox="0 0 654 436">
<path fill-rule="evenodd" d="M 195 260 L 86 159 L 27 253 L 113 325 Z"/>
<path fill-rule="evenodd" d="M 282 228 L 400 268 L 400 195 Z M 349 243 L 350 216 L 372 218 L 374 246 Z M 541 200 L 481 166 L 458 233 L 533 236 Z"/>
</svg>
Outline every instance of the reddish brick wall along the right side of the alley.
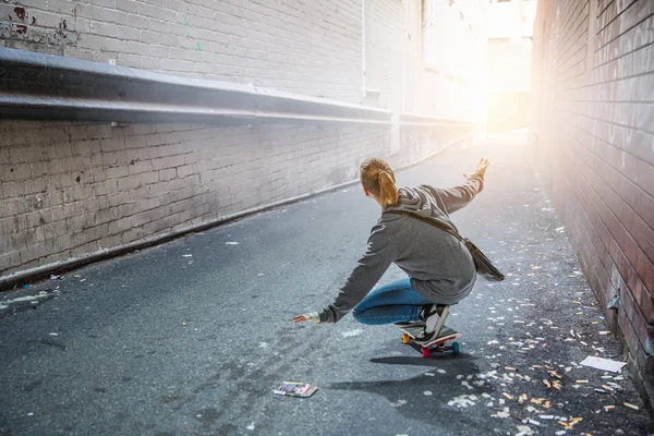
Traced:
<svg viewBox="0 0 654 436">
<path fill-rule="evenodd" d="M 613 331 L 654 375 L 654 1 L 542 1 L 531 142 Z M 644 383 L 649 388 L 649 384 Z"/>
</svg>

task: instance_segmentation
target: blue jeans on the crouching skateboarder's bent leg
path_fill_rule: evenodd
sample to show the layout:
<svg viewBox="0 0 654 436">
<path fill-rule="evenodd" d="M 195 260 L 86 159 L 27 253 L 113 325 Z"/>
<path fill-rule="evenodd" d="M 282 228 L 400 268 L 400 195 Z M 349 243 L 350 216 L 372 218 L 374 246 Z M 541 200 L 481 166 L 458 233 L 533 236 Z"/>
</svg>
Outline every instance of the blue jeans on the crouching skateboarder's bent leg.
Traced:
<svg viewBox="0 0 654 436">
<path fill-rule="evenodd" d="M 425 304 L 434 303 L 420 296 L 405 278 L 372 290 L 352 310 L 352 316 L 367 325 L 416 322 Z"/>
</svg>

